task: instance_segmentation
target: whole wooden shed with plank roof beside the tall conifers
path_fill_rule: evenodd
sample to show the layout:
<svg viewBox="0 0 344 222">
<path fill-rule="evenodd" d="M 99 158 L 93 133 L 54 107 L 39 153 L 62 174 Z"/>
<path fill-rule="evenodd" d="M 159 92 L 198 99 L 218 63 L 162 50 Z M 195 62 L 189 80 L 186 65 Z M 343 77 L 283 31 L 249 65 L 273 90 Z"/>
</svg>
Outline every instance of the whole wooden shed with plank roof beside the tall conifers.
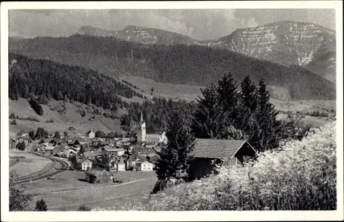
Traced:
<svg viewBox="0 0 344 222">
<path fill-rule="evenodd" d="M 245 158 L 254 158 L 257 151 L 246 140 L 196 139 L 191 155 L 189 176 L 197 179 L 209 175 L 213 164 L 233 166 L 243 164 Z"/>
</svg>

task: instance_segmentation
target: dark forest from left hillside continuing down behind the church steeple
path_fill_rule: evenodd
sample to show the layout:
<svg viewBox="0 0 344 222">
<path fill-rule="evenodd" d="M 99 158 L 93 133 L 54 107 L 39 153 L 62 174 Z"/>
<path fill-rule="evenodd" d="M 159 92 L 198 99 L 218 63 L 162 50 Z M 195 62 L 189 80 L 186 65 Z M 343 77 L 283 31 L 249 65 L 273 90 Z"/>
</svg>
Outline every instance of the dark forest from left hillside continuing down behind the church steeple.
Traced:
<svg viewBox="0 0 344 222">
<path fill-rule="evenodd" d="M 12 100 L 34 97 L 41 104 L 47 104 L 51 98 L 65 102 L 74 100 L 111 111 L 121 107 L 127 114 L 109 117 L 119 118 L 122 128 L 129 133 L 135 132 L 141 111 L 147 122 L 147 131 L 155 132 L 166 128 L 166 120 L 174 109 L 184 109 L 184 113 L 191 115 L 194 108 L 193 103 L 165 98 L 145 100 L 143 104 L 125 102 L 119 96 L 132 98 L 142 95 L 118 80 L 91 69 L 60 65 L 49 60 L 9 54 L 9 70 L 9 97 Z"/>
</svg>

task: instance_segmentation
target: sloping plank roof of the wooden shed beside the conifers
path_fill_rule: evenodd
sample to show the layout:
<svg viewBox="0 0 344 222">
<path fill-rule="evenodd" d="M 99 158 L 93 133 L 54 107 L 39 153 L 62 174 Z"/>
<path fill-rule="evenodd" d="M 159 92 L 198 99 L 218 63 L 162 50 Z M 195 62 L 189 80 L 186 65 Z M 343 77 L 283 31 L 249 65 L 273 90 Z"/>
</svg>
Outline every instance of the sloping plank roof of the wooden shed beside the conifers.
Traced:
<svg viewBox="0 0 344 222">
<path fill-rule="evenodd" d="M 231 158 L 245 143 L 248 142 L 246 140 L 196 139 L 191 155 L 213 159 Z"/>
</svg>

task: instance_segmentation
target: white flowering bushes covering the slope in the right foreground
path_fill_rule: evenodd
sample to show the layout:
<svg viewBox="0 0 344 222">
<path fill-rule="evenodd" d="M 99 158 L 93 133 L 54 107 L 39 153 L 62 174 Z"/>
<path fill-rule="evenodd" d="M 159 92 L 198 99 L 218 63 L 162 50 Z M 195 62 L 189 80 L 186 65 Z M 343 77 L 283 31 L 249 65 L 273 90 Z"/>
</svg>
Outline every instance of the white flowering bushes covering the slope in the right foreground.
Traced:
<svg viewBox="0 0 344 222">
<path fill-rule="evenodd" d="M 336 122 L 244 167 L 179 184 L 118 210 L 335 210 Z M 99 209 L 98 209 L 99 210 Z"/>
</svg>

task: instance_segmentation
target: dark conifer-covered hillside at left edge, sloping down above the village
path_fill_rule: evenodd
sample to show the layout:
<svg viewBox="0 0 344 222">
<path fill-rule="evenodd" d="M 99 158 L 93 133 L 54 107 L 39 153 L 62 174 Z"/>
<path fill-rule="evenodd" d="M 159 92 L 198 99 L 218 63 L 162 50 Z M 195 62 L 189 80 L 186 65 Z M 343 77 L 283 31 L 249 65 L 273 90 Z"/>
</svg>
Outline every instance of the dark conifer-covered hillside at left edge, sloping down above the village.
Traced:
<svg viewBox="0 0 344 222">
<path fill-rule="evenodd" d="M 35 60 L 9 54 L 9 97 L 39 96 L 42 103 L 48 98 L 92 103 L 105 109 L 115 109 L 123 102 L 118 97 L 142 96 L 114 78 L 91 69 L 56 64 L 50 60 Z"/>
</svg>

